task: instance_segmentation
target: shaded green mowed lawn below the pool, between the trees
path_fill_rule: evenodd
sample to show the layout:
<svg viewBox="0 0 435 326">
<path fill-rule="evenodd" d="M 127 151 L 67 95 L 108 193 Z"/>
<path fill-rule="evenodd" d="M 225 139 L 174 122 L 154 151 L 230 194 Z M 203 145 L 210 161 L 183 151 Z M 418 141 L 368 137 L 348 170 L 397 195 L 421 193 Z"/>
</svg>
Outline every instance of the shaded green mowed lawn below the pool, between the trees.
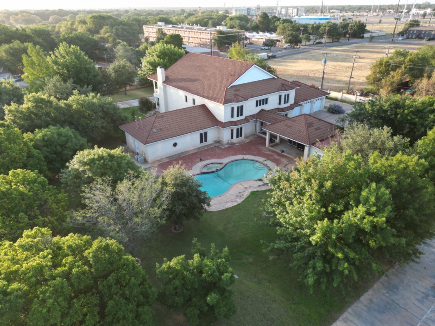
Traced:
<svg viewBox="0 0 435 326">
<path fill-rule="evenodd" d="M 228 246 L 231 267 L 239 277 L 233 286 L 238 312 L 231 320 L 216 325 L 330 325 L 358 299 L 371 283 L 359 284 L 343 295 L 337 289 L 310 294 L 298 282 L 298 273 L 288 267 L 290 256 L 269 259 L 261 240 L 272 242 L 276 229 L 268 226 L 263 216 L 267 191 L 251 193 L 242 203 L 231 208 L 207 212 L 199 221 L 184 225 L 184 231 L 173 233 L 165 226 L 139 252 L 142 266 L 152 283 L 158 286 L 155 264 L 163 258 L 186 254 L 191 258 L 191 241 L 197 238 L 203 246 L 211 243 L 221 250 Z M 157 325 L 185 325 L 180 311 L 155 307 Z"/>
</svg>

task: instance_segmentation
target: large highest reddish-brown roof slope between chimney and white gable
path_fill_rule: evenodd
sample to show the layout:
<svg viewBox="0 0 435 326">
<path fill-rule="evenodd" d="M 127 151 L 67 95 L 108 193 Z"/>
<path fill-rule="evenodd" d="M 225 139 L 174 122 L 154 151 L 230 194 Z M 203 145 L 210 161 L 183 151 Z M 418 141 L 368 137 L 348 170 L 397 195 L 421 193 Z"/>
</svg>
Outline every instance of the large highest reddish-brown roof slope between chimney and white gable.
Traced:
<svg viewBox="0 0 435 326">
<path fill-rule="evenodd" d="M 223 104 L 227 87 L 252 66 L 251 62 L 189 52 L 165 70 L 163 83 Z M 157 81 L 157 73 L 148 78 Z"/>
</svg>

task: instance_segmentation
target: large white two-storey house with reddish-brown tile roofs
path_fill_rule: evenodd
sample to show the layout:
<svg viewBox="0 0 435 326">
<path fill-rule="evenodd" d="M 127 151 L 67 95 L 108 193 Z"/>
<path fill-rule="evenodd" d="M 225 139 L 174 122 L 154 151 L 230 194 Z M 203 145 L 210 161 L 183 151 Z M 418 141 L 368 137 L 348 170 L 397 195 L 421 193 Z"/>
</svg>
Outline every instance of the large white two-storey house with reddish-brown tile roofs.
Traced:
<svg viewBox="0 0 435 326">
<path fill-rule="evenodd" d="M 266 146 L 270 135 L 303 146 L 307 157 L 315 142 L 335 133 L 333 124 L 308 116 L 321 110 L 328 93 L 254 63 L 189 52 L 148 78 L 158 113 L 120 129 L 127 146 L 150 163 L 255 133 L 266 134 Z"/>
</svg>

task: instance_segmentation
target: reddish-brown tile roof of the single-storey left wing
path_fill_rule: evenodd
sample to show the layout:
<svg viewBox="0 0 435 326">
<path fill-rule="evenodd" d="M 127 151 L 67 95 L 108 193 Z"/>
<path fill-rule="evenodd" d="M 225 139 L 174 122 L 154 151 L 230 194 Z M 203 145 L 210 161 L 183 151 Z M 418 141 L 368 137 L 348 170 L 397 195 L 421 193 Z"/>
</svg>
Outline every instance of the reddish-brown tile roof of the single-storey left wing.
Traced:
<svg viewBox="0 0 435 326">
<path fill-rule="evenodd" d="M 150 144 L 221 124 L 223 123 L 216 119 L 207 106 L 201 104 L 157 113 L 142 121 L 124 123 L 119 128 L 141 143 Z"/>
</svg>

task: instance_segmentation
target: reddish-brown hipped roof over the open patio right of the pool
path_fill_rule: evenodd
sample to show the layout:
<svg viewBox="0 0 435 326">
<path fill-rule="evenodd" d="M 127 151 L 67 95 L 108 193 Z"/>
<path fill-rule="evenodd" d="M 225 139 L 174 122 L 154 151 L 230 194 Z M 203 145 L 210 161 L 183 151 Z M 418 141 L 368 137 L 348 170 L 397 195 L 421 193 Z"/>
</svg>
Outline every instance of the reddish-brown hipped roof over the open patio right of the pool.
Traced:
<svg viewBox="0 0 435 326">
<path fill-rule="evenodd" d="M 276 133 L 298 143 L 310 145 L 335 135 L 335 125 L 309 114 L 301 114 L 263 126 L 264 130 Z"/>
</svg>

